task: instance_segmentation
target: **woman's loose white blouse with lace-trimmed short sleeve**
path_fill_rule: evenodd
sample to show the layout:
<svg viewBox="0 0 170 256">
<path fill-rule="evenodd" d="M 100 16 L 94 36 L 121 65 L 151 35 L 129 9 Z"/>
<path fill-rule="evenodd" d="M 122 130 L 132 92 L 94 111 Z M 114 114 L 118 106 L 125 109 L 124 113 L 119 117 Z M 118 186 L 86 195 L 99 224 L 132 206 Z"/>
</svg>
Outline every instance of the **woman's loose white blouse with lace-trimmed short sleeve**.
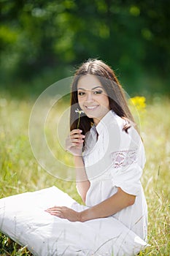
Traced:
<svg viewBox="0 0 170 256">
<path fill-rule="evenodd" d="M 144 146 L 134 127 L 123 131 L 125 120 L 110 110 L 87 132 L 83 149 L 85 170 L 90 181 L 86 206 L 95 206 L 117 192 L 117 187 L 135 195 L 133 206 L 112 215 L 147 239 L 147 203 L 140 178 L 145 163 Z"/>
</svg>

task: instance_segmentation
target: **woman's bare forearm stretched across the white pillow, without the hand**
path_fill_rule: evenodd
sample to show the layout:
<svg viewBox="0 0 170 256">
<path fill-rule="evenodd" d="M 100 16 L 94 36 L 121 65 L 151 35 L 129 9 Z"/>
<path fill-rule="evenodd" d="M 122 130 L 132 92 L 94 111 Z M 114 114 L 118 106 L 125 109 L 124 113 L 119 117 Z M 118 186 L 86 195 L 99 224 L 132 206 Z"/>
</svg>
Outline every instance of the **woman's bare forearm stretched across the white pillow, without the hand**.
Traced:
<svg viewBox="0 0 170 256">
<path fill-rule="evenodd" d="M 98 203 L 96 206 L 80 212 L 80 222 L 85 222 L 90 219 L 109 217 L 125 207 L 132 206 L 134 202 L 134 195 L 129 195 L 123 192 L 122 189 L 118 188 L 115 195 L 112 195 L 107 200 Z"/>
</svg>

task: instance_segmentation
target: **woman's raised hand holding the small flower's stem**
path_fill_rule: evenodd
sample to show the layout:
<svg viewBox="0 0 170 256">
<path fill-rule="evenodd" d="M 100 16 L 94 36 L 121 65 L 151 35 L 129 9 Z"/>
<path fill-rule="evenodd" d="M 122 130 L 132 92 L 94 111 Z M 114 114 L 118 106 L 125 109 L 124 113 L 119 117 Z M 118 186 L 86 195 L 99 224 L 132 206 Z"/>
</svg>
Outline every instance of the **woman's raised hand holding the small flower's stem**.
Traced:
<svg viewBox="0 0 170 256">
<path fill-rule="evenodd" d="M 85 135 L 82 135 L 81 129 L 73 129 L 66 138 L 66 151 L 74 156 L 82 156 L 82 147 Z"/>
</svg>

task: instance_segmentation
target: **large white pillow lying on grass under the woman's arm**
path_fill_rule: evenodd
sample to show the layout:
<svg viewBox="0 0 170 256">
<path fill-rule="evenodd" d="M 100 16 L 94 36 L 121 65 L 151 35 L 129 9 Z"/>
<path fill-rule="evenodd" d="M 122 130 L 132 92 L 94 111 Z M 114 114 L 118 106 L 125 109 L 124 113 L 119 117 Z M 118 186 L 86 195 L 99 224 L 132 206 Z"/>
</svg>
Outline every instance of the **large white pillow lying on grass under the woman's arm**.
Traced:
<svg viewBox="0 0 170 256">
<path fill-rule="evenodd" d="M 57 187 L 5 197 L 0 200 L 0 231 L 38 256 L 136 255 L 146 244 L 114 217 L 69 222 L 45 209 L 81 206 Z"/>
</svg>

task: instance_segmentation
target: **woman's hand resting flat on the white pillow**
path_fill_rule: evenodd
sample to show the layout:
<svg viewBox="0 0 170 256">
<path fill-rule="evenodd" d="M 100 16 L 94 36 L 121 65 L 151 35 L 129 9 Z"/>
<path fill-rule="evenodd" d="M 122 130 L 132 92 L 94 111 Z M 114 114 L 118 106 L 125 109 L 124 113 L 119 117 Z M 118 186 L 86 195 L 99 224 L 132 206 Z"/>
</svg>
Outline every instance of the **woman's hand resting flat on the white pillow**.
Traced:
<svg viewBox="0 0 170 256">
<path fill-rule="evenodd" d="M 66 206 L 53 206 L 45 211 L 61 219 L 69 219 L 70 222 L 80 222 L 80 212 Z"/>
</svg>

